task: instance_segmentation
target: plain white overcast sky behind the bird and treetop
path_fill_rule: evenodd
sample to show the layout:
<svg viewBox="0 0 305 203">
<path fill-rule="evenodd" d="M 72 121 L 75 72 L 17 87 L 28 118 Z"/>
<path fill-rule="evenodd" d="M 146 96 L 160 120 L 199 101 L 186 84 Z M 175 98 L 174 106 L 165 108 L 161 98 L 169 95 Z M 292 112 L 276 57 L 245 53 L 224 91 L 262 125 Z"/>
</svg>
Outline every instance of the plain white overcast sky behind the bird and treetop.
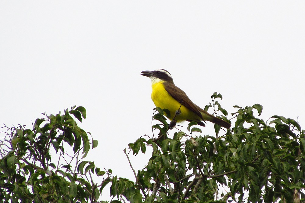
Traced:
<svg viewBox="0 0 305 203">
<path fill-rule="evenodd" d="M 201 107 L 218 91 L 229 112 L 259 103 L 304 129 L 305 1 L 1 1 L 0 68 L 0 123 L 82 105 L 99 140 L 86 160 L 134 180 L 122 150 L 151 135 L 143 70 L 167 69 Z"/>
</svg>

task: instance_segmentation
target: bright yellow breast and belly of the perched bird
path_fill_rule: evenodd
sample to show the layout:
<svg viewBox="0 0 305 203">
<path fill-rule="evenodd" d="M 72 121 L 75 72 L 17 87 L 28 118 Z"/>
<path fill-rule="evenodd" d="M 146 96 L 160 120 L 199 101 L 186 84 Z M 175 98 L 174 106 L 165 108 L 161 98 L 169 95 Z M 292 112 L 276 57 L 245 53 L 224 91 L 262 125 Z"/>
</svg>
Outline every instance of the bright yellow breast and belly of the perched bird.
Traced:
<svg viewBox="0 0 305 203">
<path fill-rule="evenodd" d="M 168 118 L 172 120 L 181 104 L 167 93 L 163 86 L 163 82 L 152 84 L 151 97 L 156 107 L 160 107 L 161 109 L 168 109 L 170 111 L 170 116 Z M 181 106 L 180 111 L 181 114 L 175 118 L 177 121 L 201 120 L 199 116 L 197 116 L 184 105 Z"/>
</svg>

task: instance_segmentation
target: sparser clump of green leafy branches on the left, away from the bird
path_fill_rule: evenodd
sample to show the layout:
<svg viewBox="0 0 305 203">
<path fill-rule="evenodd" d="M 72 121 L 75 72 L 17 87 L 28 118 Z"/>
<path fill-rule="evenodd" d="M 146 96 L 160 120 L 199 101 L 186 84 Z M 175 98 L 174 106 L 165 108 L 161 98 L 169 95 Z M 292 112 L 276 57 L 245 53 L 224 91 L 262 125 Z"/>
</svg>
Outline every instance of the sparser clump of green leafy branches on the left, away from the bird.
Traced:
<svg viewBox="0 0 305 203">
<path fill-rule="evenodd" d="M 46 115 L 36 119 L 33 130 L 25 126 L 4 127 L 0 140 L 0 202 L 86 202 L 99 198 L 91 173 L 106 172 L 94 162 L 80 162 L 97 141 L 77 126 L 86 118 L 84 107 L 66 109 L 64 114 Z M 73 155 L 65 151 L 72 147 Z M 57 156 L 57 159 L 55 158 Z M 63 164 L 61 164 L 63 163 Z M 72 165 L 78 165 L 78 168 Z M 85 170 L 83 167 L 86 165 Z M 76 169 L 78 169 L 76 171 Z M 93 170 L 94 169 L 94 170 Z M 110 175 L 108 171 L 107 175 Z"/>
</svg>

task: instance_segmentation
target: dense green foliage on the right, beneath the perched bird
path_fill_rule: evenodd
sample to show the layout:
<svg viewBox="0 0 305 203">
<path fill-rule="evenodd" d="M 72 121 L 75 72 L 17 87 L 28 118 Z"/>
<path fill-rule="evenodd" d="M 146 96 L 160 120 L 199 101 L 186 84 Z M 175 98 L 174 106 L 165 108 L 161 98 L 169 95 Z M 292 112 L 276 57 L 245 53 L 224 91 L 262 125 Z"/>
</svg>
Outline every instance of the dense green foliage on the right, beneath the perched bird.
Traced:
<svg viewBox="0 0 305 203">
<path fill-rule="evenodd" d="M 227 116 L 217 98 L 222 96 L 215 92 L 213 104 L 205 109 Z M 193 132 L 201 132 L 191 122 L 190 135 L 178 131 L 172 139 L 166 134 L 163 110 L 156 108 L 153 119 L 161 124 L 153 128 L 160 131 L 159 137 L 140 138 L 129 145 L 134 154 L 145 145 L 153 149 L 137 176 L 146 202 L 297 202 L 295 195 L 303 196 L 304 130 L 295 120 L 282 116 L 272 116 L 268 125 L 253 115 L 253 109 L 261 115 L 259 104 L 235 108 L 235 126 L 221 137 L 217 125 L 216 136 L 191 137 Z"/>
</svg>

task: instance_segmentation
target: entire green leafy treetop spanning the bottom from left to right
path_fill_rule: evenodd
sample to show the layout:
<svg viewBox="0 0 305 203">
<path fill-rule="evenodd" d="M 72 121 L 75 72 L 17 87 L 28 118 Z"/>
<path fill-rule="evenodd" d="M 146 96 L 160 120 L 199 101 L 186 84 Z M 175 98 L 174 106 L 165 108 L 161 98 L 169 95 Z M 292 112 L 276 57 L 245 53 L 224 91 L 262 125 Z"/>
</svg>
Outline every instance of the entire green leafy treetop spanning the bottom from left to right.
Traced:
<svg viewBox="0 0 305 203">
<path fill-rule="evenodd" d="M 221 94 L 215 92 L 211 98 L 205 110 L 212 108 L 229 121 L 218 102 Z M 144 168 L 135 171 L 124 150 L 135 181 L 80 161 L 79 155 L 85 156 L 90 144 L 97 146 L 71 116 L 81 122 L 83 107 L 37 119 L 33 130 L 6 127 L 10 131 L 0 142 L 0 201 L 97 202 L 107 184 L 116 199 L 111 202 L 304 201 L 305 131 L 283 116 L 272 116 L 269 124 L 255 117 L 253 110 L 258 116 L 262 113 L 259 104 L 235 108 L 232 129 L 214 125 L 215 135 L 203 135 L 195 122 L 188 124 L 188 133 L 176 127 L 169 130 L 166 110 L 155 108 L 152 137 L 145 135 L 129 144 L 133 155 L 152 152 Z M 59 160 L 55 164 L 51 147 L 67 160 L 64 143 L 73 147 L 74 155 L 66 164 Z M 93 175 L 104 179 L 95 183 Z"/>
</svg>

